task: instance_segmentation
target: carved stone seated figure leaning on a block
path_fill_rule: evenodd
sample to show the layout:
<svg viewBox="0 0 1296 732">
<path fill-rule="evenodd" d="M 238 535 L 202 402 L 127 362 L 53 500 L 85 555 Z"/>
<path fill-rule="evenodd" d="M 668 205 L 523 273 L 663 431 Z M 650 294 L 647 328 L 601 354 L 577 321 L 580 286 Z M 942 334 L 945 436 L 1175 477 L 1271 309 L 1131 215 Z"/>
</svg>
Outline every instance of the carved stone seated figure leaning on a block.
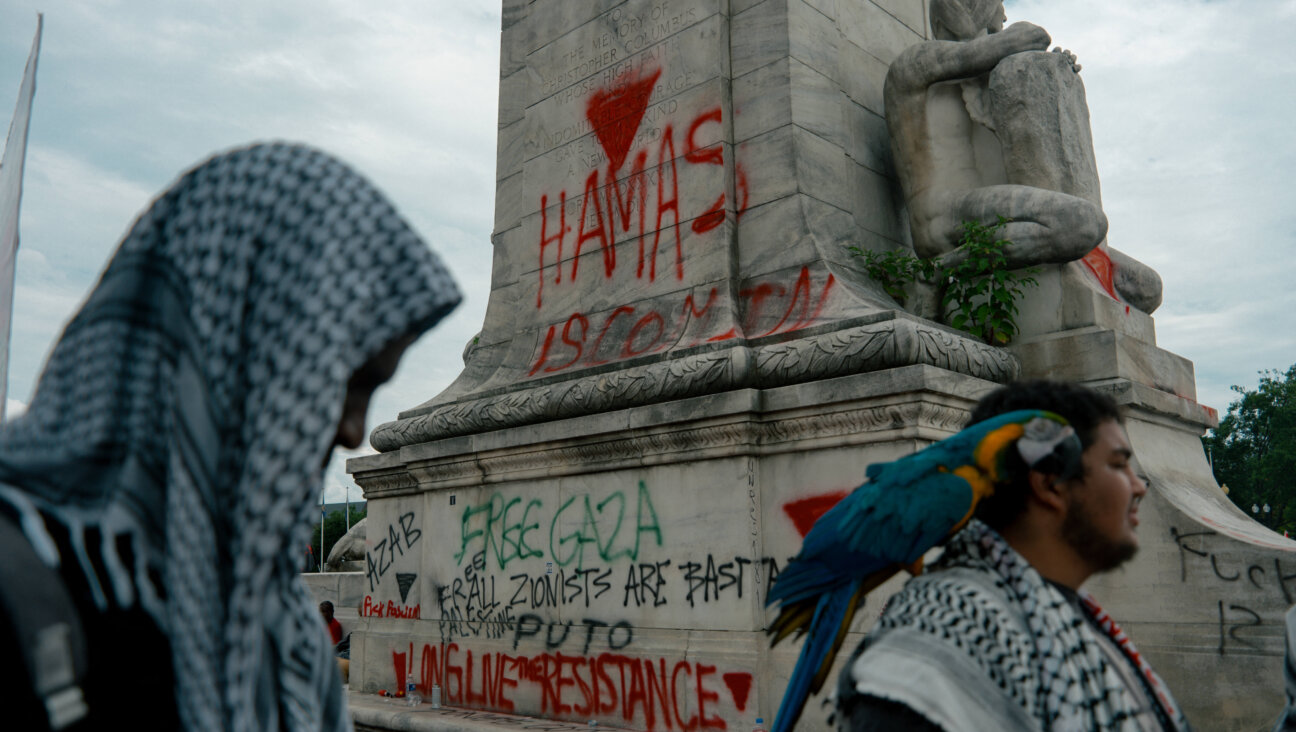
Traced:
<svg viewBox="0 0 1296 732">
<path fill-rule="evenodd" d="M 937 40 L 902 52 L 885 83 L 915 251 L 954 264 L 962 223 L 1002 215 L 1010 267 L 1083 258 L 1108 294 L 1156 310 L 1156 272 L 1105 244 L 1076 56 L 1047 53 L 1033 23 L 1004 27 L 1001 0 L 932 0 L 931 18 Z"/>
</svg>

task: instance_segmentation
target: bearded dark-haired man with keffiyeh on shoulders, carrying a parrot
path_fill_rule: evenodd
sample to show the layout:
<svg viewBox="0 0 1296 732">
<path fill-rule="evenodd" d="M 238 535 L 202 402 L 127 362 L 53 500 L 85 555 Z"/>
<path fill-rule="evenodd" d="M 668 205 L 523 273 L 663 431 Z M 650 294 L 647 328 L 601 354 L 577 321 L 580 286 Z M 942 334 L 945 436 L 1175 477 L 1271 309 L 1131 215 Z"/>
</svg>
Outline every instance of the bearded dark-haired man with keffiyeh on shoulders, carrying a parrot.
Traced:
<svg viewBox="0 0 1296 732">
<path fill-rule="evenodd" d="M 1080 586 L 1138 549 L 1135 473 L 1111 398 L 1047 381 L 982 399 L 1064 417 L 1078 470 L 1010 456 L 1007 477 L 940 558 L 894 595 L 836 692 L 853 732 L 1183 731 L 1187 719 L 1125 632 Z"/>
</svg>

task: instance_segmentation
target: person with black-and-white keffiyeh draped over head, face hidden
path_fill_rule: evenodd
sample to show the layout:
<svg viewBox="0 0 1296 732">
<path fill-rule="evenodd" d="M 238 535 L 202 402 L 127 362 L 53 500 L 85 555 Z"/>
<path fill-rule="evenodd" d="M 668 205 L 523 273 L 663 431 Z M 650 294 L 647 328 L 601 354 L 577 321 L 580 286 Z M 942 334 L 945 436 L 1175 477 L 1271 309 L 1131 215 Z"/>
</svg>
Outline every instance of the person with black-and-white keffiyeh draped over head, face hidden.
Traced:
<svg viewBox="0 0 1296 732">
<path fill-rule="evenodd" d="M 218 154 L 153 201 L 0 428 L 6 571 L 51 567 L 27 599 L 75 608 L 52 623 L 0 591 L 26 661 L 4 680 L 32 689 L 6 715 L 350 729 L 298 549 L 333 447 L 459 299 L 390 202 L 308 148 Z"/>
</svg>

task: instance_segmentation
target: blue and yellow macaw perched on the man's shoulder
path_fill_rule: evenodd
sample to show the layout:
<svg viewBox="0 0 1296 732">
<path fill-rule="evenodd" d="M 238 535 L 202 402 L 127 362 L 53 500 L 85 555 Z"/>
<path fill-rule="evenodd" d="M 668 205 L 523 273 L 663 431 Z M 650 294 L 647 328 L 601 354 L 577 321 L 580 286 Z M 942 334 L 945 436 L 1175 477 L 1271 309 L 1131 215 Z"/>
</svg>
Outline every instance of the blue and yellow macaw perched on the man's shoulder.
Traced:
<svg viewBox="0 0 1296 732">
<path fill-rule="evenodd" d="M 793 632 L 807 636 L 770 732 L 792 729 L 806 698 L 823 687 L 864 596 L 901 569 L 921 571 L 923 555 L 962 530 L 1006 479 L 1012 447 L 1026 465 L 1063 475 L 1078 469 L 1080 439 L 1067 420 L 1008 412 L 870 465 L 868 481 L 819 517 L 766 601 L 781 605 L 771 645 Z"/>
</svg>

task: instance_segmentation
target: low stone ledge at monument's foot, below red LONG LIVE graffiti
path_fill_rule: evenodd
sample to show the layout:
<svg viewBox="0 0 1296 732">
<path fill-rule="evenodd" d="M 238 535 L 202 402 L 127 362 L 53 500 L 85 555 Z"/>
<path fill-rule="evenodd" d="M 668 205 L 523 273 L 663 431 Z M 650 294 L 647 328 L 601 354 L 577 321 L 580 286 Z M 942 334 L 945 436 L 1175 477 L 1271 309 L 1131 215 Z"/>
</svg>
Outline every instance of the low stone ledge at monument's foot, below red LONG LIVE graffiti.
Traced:
<svg viewBox="0 0 1296 732">
<path fill-rule="evenodd" d="M 535 716 L 517 716 L 476 709 L 443 706 L 432 709 L 426 702 L 408 706 L 403 698 L 347 692 L 356 732 L 395 729 L 400 732 L 491 732 L 496 729 L 531 729 L 537 732 L 590 732 L 586 724 L 572 724 Z M 599 726 L 597 729 L 616 729 Z"/>
</svg>

